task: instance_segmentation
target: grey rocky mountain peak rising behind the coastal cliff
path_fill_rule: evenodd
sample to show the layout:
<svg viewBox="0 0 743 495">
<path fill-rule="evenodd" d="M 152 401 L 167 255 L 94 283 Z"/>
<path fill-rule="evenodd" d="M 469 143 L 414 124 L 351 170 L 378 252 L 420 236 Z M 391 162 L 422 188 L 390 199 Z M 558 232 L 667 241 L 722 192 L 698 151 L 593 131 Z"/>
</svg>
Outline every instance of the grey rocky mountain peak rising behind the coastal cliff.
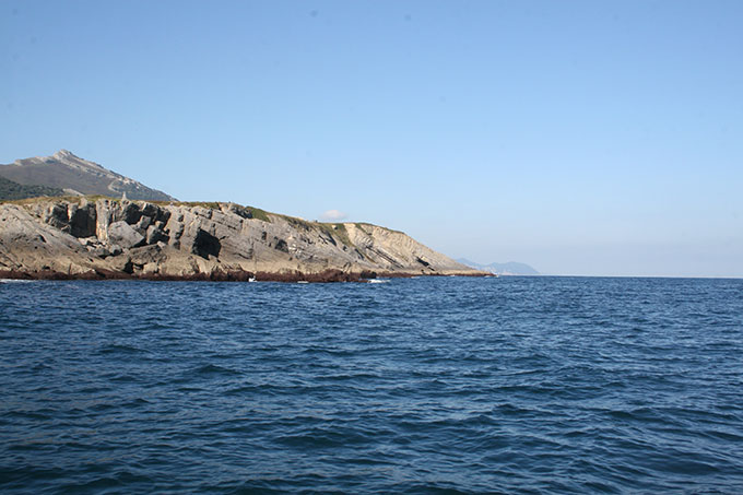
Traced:
<svg viewBox="0 0 743 495">
<path fill-rule="evenodd" d="M 134 179 L 108 170 L 67 150 L 51 156 L 16 160 L 0 165 L 0 177 L 22 186 L 46 186 L 63 189 L 69 195 L 102 195 L 131 200 L 174 201 L 169 195 L 151 189 Z"/>
</svg>

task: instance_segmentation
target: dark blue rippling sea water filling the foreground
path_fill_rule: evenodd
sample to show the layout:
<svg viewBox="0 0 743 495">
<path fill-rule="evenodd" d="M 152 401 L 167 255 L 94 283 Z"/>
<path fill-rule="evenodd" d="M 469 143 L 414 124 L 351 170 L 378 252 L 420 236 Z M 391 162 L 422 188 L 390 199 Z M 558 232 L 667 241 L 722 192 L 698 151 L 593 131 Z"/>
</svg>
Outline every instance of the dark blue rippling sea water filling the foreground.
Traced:
<svg viewBox="0 0 743 495">
<path fill-rule="evenodd" d="M 2 493 L 743 493 L 743 280 L 0 283 Z"/>
</svg>

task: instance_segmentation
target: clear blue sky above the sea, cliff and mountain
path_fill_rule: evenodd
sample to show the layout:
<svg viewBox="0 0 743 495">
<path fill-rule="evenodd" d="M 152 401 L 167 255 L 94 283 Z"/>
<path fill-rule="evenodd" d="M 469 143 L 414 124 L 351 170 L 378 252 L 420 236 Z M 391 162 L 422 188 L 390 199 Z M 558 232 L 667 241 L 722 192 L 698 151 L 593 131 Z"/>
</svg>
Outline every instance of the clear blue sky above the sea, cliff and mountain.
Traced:
<svg viewBox="0 0 743 495">
<path fill-rule="evenodd" d="M 743 276 L 742 1 L 0 1 L 0 163 L 543 273 Z"/>
</svg>

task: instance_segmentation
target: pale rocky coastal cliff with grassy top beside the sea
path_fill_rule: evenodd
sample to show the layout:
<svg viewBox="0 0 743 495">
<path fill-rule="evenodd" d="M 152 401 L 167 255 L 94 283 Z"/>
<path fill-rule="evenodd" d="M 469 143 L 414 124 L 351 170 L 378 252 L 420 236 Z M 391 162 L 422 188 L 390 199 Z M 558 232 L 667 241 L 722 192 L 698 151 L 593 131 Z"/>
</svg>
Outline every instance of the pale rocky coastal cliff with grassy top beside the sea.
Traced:
<svg viewBox="0 0 743 495">
<path fill-rule="evenodd" d="M 307 222 L 233 203 L 86 198 L 0 204 L 0 272 L 208 280 L 481 274 L 370 224 Z"/>
</svg>

